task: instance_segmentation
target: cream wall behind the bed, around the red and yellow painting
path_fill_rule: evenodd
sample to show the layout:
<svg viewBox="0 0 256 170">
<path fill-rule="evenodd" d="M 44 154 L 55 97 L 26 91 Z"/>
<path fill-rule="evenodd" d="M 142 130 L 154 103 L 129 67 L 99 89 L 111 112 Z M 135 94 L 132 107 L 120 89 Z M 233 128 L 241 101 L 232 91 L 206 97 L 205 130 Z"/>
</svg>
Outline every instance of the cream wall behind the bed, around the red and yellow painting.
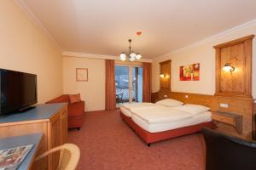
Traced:
<svg viewBox="0 0 256 170">
<path fill-rule="evenodd" d="M 160 61 L 172 59 L 171 88 L 174 92 L 186 92 L 195 94 L 215 93 L 215 50 L 212 48 L 222 42 L 256 35 L 256 20 L 248 24 L 225 31 L 209 37 L 201 42 L 195 42 L 188 47 L 181 48 L 175 52 L 165 54 L 153 62 L 153 87 L 152 91 L 160 89 Z M 183 37 L 185 38 L 185 37 Z M 200 63 L 200 81 L 179 81 L 179 66 Z M 256 37 L 253 39 L 253 98 L 256 98 Z"/>
</svg>

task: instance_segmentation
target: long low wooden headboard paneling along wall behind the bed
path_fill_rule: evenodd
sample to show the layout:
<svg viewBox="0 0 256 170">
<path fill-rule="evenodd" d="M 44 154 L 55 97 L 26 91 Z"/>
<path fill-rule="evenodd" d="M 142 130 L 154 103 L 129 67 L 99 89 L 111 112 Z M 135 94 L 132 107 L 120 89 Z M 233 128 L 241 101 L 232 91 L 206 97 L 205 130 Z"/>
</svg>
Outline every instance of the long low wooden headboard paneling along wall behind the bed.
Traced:
<svg viewBox="0 0 256 170">
<path fill-rule="evenodd" d="M 212 111 L 222 111 L 235 113 L 242 116 L 242 134 L 236 133 L 234 127 L 226 127 L 225 125 L 219 125 L 220 130 L 224 133 L 232 133 L 240 136 L 242 138 L 251 139 L 252 138 L 252 122 L 253 122 L 253 99 L 243 99 L 243 98 L 232 98 L 224 96 L 206 95 L 206 94 L 189 94 L 189 93 L 178 93 L 171 92 L 170 90 L 162 89 L 160 92 L 152 95 L 154 99 L 152 101 L 157 101 L 160 99 L 167 98 L 177 99 L 185 104 L 197 104 L 205 105 L 210 107 Z M 186 98 L 187 97 L 187 98 Z M 220 104 L 228 104 L 228 108 L 220 107 Z"/>
</svg>

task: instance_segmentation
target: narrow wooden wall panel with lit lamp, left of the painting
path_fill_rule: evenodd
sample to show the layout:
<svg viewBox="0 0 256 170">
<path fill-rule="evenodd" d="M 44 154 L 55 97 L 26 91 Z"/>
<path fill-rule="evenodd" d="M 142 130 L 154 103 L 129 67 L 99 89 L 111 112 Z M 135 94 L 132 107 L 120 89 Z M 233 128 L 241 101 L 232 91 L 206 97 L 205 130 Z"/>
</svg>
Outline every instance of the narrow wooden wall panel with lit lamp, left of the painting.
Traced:
<svg viewBox="0 0 256 170">
<path fill-rule="evenodd" d="M 160 89 L 171 89 L 171 60 L 166 60 L 160 63 L 160 74 L 166 77 L 160 77 Z"/>
</svg>

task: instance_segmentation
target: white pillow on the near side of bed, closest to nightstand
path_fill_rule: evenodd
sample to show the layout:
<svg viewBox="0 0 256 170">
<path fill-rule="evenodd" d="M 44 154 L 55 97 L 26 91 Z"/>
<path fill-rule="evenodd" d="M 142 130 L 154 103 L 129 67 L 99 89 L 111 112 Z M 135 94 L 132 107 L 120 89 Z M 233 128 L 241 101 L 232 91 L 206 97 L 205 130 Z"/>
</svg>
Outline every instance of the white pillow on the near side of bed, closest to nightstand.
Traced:
<svg viewBox="0 0 256 170">
<path fill-rule="evenodd" d="M 203 105 L 186 104 L 186 105 L 180 105 L 178 107 L 174 107 L 173 110 L 184 111 L 193 115 L 197 115 L 200 113 L 204 113 L 206 111 L 210 111 L 211 109 Z"/>
</svg>

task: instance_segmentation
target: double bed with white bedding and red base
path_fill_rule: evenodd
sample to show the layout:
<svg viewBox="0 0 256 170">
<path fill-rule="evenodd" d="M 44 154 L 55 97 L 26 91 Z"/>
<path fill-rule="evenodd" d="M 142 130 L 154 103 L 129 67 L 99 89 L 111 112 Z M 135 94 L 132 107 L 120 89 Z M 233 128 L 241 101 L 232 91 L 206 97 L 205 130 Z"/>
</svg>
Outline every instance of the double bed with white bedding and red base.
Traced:
<svg viewBox="0 0 256 170">
<path fill-rule="evenodd" d="M 162 113 L 162 111 L 168 111 L 168 109 L 155 105 L 154 107 L 142 107 L 138 110 L 131 109 L 128 111 L 127 108 L 121 107 L 120 116 L 148 146 L 161 140 L 200 132 L 202 127 L 216 128 L 216 125 L 212 122 L 210 111 L 204 111 L 200 114 L 190 114 L 190 116 L 187 116 L 183 112 L 184 116 L 177 118 L 176 121 L 175 119 L 168 121 L 168 116 L 165 114 L 160 114 L 163 119 L 160 119 L 160 117 L 156 122 L 152 122 L 154 120 L 153 118 L 150 122 L 150 116 L 147 118 L 147 112 L 154 116 L 154 112 L 157 115 Z M 172 108 L 170 108 L 170 112 L 173 112 Z"/>
</svg>

